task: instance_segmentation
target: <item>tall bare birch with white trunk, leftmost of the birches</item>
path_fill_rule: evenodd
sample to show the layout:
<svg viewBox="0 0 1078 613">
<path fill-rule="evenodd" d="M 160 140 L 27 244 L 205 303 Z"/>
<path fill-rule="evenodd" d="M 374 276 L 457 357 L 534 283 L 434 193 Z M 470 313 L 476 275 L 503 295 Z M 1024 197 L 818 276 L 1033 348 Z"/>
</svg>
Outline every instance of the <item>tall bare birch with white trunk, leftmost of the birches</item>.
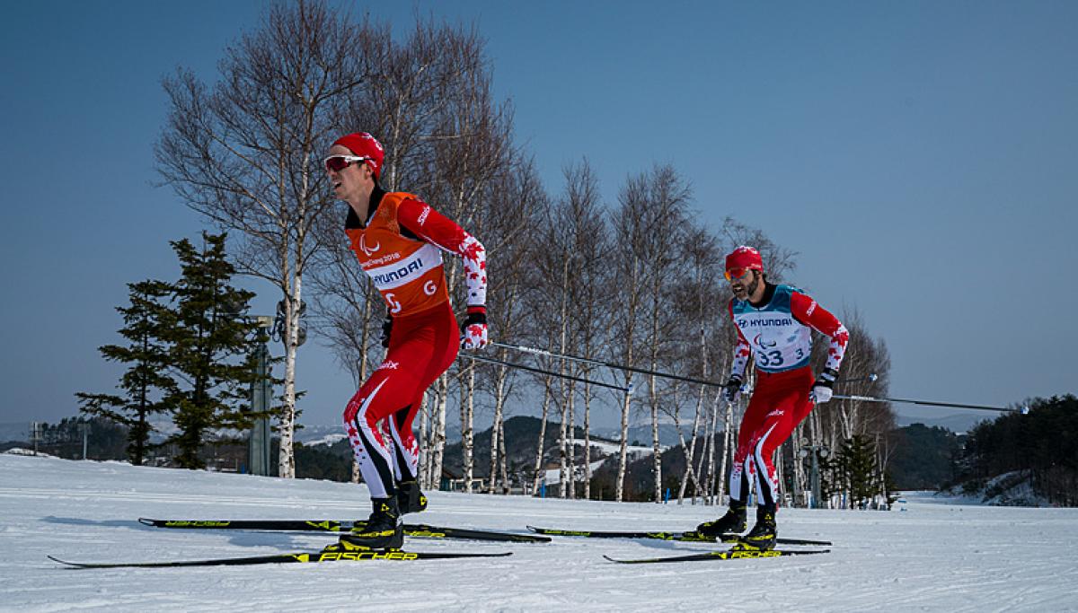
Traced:
<svg viewBox="0 0 1078 613">
<path fill-rule="evenodd" d="M 238 231 L 236 268 L 281 292 L 285 393 L 280 476 L 293 477 L 300 307 L 312 229 L 331 210 L 320 159 L 341 99 L 365 78 L 347 24 L 321 2 L 273 6 L 224 52 L 207 86 L 179 70 L 164 80 L 169 114 L 155 154 L 166 184 L 222 228 Z"/>
</svg>

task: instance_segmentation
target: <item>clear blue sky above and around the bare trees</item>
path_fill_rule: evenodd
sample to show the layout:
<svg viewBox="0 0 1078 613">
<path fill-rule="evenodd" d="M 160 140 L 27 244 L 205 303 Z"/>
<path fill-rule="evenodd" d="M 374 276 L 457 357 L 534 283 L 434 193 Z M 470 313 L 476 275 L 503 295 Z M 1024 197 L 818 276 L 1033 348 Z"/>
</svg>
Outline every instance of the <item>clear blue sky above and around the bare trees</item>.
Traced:
<svg viewBox="0 0 1078 613">
<path fill-rule="evenodd" d="M 548 190 L 586 156 L 612 201 L 669 163 L 703 220 L 734 215 L 800 252 L 792 280 L 886 340 L 893 395 L 1078 391 L 1078 3 L 353 6 L 401 28 L 416 6 L 474 23 Z M 5 5 L 0 422 L 56 421 L 75 391 L 112 389 L 96 347 L 119 340 L 125 283 L 175 278 L 167 241 L 203 227 L 151 184 L 161 78 L 216 79 L 264 8 Z M 253 289 L 268 311 L 277 296 Z M 336 423 L 348 375 L 312 343 L 299 377 L 304 421 Z"/>
</svg>

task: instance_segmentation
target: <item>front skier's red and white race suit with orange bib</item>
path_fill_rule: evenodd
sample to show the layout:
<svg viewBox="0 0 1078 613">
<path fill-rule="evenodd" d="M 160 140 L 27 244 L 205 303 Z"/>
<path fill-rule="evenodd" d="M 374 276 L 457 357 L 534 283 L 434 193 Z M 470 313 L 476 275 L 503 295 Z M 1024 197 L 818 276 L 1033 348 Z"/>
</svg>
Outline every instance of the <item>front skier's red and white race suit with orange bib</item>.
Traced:
<svg viewBox="0 0 1078 613">
<path fill-rule="evenodd" d="M 456 223 L 412 194 L 375 190 L 367 225 L 349 209 L 345 232 L 392 318 L 386 359 L 344 410 L 359 470 L 372 498 L 416 477 L 412 421 L 423 394 L 450 367 L 460 333 L 450 304 L 442 251 L 464 257 L 470 312 L 485 312 L 486 254 Z"/>
</svg>

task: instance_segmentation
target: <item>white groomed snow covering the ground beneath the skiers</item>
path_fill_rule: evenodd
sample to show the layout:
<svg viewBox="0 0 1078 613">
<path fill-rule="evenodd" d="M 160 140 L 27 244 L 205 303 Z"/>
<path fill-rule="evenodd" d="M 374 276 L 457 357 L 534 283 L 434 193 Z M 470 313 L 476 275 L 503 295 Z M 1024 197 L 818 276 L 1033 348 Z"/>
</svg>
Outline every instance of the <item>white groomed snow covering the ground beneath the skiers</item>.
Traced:
<svg viewBox="0 0 1078 613">
<path fill-rule="evenodd" d="M 326 534 L 148 528 L 155 518 L 365 517 L 362 486 L 0 455 L 3 611 L 1075 611 L 1078 510 L 960 504 L 909 493 L 906 511 L 783 510 L 780 534 L 832 552 L 622 566 L 603 559 L 708 551 L 663 541 L 548 544 L 411 539 L 412 551 L 498 559 L 179 569 L 60 568 L 318 549 Z M 689 529 L 718 510 L 676 504 L 430 493 L 412 521 L 524 532 Z"/>
</svg>

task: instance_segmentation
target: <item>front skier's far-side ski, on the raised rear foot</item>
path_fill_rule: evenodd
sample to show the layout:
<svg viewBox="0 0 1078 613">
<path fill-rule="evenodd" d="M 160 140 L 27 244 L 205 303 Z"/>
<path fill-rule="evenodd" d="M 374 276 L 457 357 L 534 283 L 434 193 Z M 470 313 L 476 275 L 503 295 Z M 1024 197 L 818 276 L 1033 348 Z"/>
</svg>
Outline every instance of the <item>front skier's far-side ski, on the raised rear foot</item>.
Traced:
<svg viewBox="0 0 1078 613">
<path fill-rule="evenodd" d="M 140 517 L 139 523 L 155 528 L 195 528 L 212 530 L 266 530 L 282 532 L 348 532 L 362 528 L 365 521 L 341 521 L 336 519 L 149 519 Z M 513 534 L 490 530 L 471 530 L 428 526 L 427 524 L 405 524 L 406 537 L 425 539 L 462 539 L 469 541 L 497 541 L 506 543 L 549 543 L 549 537 L 536 534 Z"/>
</svg>

